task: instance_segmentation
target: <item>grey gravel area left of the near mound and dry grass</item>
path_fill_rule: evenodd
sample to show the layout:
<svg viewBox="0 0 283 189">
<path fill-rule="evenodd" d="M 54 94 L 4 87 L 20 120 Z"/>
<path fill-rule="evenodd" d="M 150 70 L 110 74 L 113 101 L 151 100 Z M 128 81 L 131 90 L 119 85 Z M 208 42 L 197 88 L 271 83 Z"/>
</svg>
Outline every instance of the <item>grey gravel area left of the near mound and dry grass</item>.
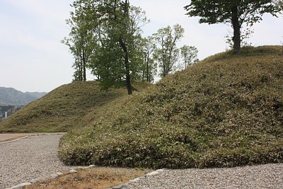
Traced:
<svg viewBox="0 0 283 189">
<path fill-rule="evenodd" d="M 0 144 L 0 189 L 69 171 L 57 157 L 62 134 L 30 136 Z"/>
</svg>

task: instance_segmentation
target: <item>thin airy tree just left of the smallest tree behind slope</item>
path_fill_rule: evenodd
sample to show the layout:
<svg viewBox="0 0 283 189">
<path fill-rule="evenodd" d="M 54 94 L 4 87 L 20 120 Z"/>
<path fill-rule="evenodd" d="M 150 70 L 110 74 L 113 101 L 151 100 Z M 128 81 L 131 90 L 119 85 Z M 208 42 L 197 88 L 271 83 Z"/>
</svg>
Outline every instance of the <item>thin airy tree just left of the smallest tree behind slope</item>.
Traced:
<svg viewBox="0 0 283 189">
<path fill-rule="evenodd" d="M 154 40 L 158 44 L 155 50 L 155 57 L 161 68 L 161 77 L 167 76 L 174 70 L 174 65 L 178 61 L 180 55 L 177 47 L 177 42 L 183 38 L 185 30 L 181 25 L 173 25 L 172 28 L 168 25 L 166 28 L 158 29 L 155 33 Z"/>
</svg>

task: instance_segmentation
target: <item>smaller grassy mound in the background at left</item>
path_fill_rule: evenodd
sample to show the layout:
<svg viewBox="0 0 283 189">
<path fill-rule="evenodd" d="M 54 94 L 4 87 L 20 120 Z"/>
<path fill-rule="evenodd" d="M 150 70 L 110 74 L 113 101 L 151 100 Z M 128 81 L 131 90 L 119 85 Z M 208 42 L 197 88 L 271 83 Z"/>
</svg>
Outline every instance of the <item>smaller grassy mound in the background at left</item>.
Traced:
<svg viewBox="0 0 283 189">
<path fill-rule="evenodd" d="M 136 83 L 137 88 L 146 84 Z M 100 118 L 127 98 L 125 88 L 100 90 L 97 81 L 75 81 L 54 89 L 0 122 L 1 132 L 67 132 Z"/>
</svg>

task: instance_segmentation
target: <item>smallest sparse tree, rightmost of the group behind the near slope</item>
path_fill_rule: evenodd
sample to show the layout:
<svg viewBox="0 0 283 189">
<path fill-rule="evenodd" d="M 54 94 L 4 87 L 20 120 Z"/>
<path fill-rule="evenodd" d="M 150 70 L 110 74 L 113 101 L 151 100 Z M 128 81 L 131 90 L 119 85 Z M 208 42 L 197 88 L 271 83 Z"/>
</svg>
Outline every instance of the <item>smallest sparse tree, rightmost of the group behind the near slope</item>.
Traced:
<svg viewBox="0 0 283 189">
<path fill-rule="evenodd" d="M 184 45 L 183 47 L 180 48 L 181 52 L 181 57 L 183 58 L 184 61 L 184 69 L 195 62 L 198 62 L 199 59 L 197 59 L 197 53 L 199 52 L 196 47 L 194 46 L 187 46 Z"/>
</svg>

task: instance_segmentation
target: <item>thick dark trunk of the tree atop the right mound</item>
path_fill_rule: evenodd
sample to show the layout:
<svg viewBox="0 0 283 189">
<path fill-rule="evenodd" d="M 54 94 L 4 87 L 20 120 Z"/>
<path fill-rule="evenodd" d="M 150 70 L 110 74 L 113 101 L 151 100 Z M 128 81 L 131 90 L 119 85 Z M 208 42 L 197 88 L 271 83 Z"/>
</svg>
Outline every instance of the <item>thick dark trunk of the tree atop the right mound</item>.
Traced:
<svg viewBox="0 0 283 189">
<path fill-rule="evenodd" d="M 232 11 L 232 25 L 233 25 L 233 50 L 238 54 L 241 53 L 241 25 L 238 21 L 238 8 L 233 6 Z"/>
</svg>

